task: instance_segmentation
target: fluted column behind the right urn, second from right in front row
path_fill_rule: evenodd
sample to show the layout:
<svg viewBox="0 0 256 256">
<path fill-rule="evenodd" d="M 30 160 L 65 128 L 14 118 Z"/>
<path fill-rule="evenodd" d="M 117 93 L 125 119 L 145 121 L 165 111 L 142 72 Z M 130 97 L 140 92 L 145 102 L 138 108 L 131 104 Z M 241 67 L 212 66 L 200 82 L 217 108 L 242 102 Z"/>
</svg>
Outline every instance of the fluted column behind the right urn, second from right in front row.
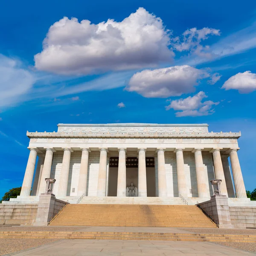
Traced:
<svg viewBox="0 0 256 256">
<path fill-rule="evenodd" d="M 226 180 L 225 180 L 223 166 L 222 166 L 222 162 L 221 162 L 220 150 L 219 149 L 212 149 L 210 152 L 212 152 L 212 157 L 213 157 L 215 179 L 222 180 L 221 185 L 220 185 L 221 194 L 228 196 L 227 195 Z"/>
</svg>

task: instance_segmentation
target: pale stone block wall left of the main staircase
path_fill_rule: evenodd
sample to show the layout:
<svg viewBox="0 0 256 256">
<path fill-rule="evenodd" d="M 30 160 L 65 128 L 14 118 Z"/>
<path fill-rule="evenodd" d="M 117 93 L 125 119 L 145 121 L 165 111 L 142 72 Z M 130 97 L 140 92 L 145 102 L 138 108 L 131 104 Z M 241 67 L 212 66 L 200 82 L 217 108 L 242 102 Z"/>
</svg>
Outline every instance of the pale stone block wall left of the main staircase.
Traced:
<svg viewBox="0 0 256 256">
<path fill-rule="evenodd" d="M 38 204 L 0 204 L 0 225 L 32 225 Z"/>
</svg>

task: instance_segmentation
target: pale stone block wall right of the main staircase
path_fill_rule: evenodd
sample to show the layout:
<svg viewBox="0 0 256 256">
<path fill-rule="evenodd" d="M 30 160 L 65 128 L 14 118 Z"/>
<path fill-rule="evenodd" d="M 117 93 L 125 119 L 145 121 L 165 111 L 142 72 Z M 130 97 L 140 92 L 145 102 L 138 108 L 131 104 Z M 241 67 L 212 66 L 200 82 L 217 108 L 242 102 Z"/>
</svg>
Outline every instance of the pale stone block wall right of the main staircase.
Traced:
<svg viewBox="0 0 256 256">
<path fill-rule="evenodd" d="M 256 228 L 256 207 L 229 207 L 231 223 L 236 228 Z"/>
</svg>

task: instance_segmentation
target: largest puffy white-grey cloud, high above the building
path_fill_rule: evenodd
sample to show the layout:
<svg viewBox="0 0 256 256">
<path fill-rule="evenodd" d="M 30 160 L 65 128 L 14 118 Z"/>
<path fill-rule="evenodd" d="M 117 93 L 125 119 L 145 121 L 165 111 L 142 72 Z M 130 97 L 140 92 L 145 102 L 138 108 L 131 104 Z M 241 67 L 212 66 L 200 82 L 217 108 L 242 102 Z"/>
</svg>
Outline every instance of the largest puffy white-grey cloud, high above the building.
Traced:
<svg viewBox="0 0 256 256">
<path fill-rule="evenodd" d="M 64 75 L 154 67 L 172 60 L 169 34 L 162 20 L 144 8 L 121 22 L 79 23 L 64 17 L 49 28 L 35 67 Z"/>
</svg>

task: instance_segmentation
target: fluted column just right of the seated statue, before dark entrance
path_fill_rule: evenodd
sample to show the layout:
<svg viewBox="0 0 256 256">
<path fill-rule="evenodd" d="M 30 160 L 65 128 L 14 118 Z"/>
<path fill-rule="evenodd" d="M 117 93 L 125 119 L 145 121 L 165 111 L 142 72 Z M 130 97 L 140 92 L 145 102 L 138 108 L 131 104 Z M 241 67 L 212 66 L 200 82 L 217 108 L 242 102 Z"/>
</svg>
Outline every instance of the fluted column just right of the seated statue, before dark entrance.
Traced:
<svg viewBox="0 0 256 256">
<path fill-rule="evenodd" d="M 146 149 L 140 148 L 138 162 L 138 196 L 147 196 Z"/>
</svg>

